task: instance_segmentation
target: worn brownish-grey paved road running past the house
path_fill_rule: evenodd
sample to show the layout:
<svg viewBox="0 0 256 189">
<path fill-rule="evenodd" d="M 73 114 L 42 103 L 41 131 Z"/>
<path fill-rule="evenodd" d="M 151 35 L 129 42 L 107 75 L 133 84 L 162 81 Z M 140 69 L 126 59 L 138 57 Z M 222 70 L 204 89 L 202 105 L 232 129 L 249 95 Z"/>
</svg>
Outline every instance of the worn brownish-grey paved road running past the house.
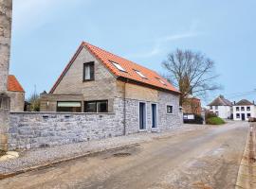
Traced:
<svg viewBox="0 0 256 189">
<path fill-rule="evenodd" d="M 0 188 L 234 188 L 248 124 L 196 130 L 0 180 Z"/>
</svg>

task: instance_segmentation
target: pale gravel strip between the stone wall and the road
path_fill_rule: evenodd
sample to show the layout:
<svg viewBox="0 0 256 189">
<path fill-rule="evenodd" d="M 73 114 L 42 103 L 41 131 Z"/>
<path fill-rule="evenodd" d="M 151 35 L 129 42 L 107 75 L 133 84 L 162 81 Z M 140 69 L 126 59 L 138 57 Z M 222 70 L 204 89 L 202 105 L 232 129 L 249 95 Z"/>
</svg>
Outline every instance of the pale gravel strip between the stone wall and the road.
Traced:
<svg viewBox="0 0 256 189">
<path fill-rule="evenodd" d="M 71 159 L 78 156 L 100 152 L 106 149 L 117 148 L 120 146 L 129 146 L 141 142 L 149 142 L 153 139 L 168 137 L 179 134 L 180 132 L 188 132 L 195 129 L 206 129 L 202 125 L 183 125 L 178 129 L 171 129 L 163 133 L 137 133 L 128 136 L 119 136 L 101 141 L 90 141 L 64 146 L 52 146 L 46 148 L 37 148 L 23 151 L 20 157 L 15 160 L 0 162 L 0 174 L 11 174 L 24 169 L 40 166 L 46 163 L 54 163 Z"/>
</svg>

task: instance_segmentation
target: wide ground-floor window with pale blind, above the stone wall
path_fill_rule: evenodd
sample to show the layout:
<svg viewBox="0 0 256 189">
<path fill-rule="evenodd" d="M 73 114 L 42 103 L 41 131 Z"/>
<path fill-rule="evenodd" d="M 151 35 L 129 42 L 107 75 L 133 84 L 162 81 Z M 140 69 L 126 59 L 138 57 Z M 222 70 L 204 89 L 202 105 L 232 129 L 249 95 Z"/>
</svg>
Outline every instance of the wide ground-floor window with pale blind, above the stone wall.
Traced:
<svg viewBox="0 0 256 189">
<path fill-rule="evenodd" d="M 82 112 L 82 102 L 57 102 L 57 112 Z"/>
</svg>

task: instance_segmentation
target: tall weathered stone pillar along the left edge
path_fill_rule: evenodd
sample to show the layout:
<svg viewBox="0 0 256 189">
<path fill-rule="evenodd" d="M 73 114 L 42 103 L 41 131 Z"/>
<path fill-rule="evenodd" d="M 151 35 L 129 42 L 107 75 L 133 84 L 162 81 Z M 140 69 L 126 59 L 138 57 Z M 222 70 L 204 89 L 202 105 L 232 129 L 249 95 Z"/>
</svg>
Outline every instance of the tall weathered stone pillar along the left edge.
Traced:
<svg viewBox="0 0 256 189">
<path fill-rule="evenodd" d="M 0 0 L 0 150 L 8 150 L 9 102 L 8 76 L 12 0 Z"/>
</svg>

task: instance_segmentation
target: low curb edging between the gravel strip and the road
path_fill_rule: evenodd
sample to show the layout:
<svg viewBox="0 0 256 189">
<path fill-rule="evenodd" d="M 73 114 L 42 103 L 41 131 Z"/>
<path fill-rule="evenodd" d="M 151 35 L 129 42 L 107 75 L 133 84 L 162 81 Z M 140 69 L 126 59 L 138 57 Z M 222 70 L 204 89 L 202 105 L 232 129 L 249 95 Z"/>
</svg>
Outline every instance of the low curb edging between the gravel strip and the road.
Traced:
<svg viewBox="0 0 256 189">
<path fill-rule="evenodd" d="M 68 162 L 68 161 L 72 161 L 72 160 L 76 160 L 76 159 L 80 159 L 80 158 L 85 158 L 85 157 L 90 157 L 90 156 L 96 156 L 96 155 L 101 154 L 101 153 L 106 152 L 106 151 L 119 150 L 119 149 L 128 148 L 128 147 L 132 147 L 132 146 L 138 146 L 138 144 L 139 143 L 131 143 L 131 144 L 125 145 L 125 146 L 116 146 L 116 147 L 111 147 L 111 148 L 105 148 L 105 149 L 101 149 L 101 150 L 98 150 L 98 151 L 86 152 L 82 155 L 73 156 L 73 157 L 70 157 L 70 158 L 64 158 L 64 159 L 61 159 L 61 160 L 53 161 L 51 163 L 43 163 L 43 164 L 40 164 L 40 165 L 30 166 L 30 167 L 27 167 L 27 168 L 24 168 L 22 170 L 18 170 L 18 171 L 12 172 L 12 173 L 0 174 L 0 180 L 4 180 L 4 179 L 7 179 L 9 177 L 13 177 L 13 176 L 20 175 L 20 174 L 23 174 L 23 173 L 27 173 L 27 172 L 30 172 L 30 171 L 34 171 L 34 170 L 45 169 L 47 167 L 51 167 L 51 166 L 59 164 L 59 163 L 64 163 L 64 162 Z"/>
</svg>

